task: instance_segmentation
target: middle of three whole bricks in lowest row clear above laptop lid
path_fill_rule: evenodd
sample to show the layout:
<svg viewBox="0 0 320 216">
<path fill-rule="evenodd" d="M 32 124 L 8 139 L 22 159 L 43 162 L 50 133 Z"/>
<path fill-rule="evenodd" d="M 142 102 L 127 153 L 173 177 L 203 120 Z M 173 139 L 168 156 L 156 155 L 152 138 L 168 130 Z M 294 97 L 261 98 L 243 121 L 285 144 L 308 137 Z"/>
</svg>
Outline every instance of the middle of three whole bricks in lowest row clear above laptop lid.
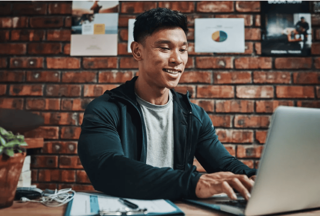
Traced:
<svg viewBox="0 0 320 216">
<path fill-rule="evenodd" d="M 270 85 L 240 85 L 236 86 L 238 98 L 273 98 L 273 86 Z"/>
</svg>

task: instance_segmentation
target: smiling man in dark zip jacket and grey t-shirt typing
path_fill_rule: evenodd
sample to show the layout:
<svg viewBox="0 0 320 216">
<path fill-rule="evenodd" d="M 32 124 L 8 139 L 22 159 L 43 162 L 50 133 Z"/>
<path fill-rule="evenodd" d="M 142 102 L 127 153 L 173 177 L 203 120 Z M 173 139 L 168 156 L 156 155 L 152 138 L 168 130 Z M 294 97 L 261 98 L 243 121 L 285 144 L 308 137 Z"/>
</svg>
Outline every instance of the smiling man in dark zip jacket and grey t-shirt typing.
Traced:
<svg viewBox="0 0 320 216">
<path fill-rule="evenodd" d="M 228 153 L 188 92 L 172 90 L 188 60 L 187 24 L 186 15 L 165 8 L 138 15 L 131 50 L 139 76 L 85 109 L 78 154 L 96 190 L 136 199 L 226 192 L 235 199 L 234 188 L 250 197 L 256 170 Z M 196 171 L 194 156 L 210 174 Z"/>
</svg>

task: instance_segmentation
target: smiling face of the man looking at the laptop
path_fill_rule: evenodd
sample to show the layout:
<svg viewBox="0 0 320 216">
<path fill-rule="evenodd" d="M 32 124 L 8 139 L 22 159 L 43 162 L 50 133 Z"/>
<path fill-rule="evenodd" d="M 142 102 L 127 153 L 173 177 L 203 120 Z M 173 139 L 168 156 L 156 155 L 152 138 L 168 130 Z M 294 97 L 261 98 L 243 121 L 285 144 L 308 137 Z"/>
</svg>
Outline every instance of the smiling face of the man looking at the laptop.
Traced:
<svg viewBox="0 0 320 216">
<path fill-rule="evenodd" d="M 187 37 L 182 28 L 158 28 L 141 47 L 139 76 L 159 90 L 177 86 L 188 61 Z"/>
</svg>

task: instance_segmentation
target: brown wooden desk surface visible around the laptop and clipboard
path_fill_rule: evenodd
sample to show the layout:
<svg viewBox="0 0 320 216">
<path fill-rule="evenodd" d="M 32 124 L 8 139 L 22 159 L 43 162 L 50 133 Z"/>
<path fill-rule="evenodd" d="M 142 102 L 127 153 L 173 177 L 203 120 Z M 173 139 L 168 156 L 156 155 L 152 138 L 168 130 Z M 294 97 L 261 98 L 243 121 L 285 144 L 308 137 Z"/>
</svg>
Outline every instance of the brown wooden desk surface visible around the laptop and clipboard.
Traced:
<svg viewBox="0 0 320 216">
<path fill-rule="evenodd" d="M 232 216 L 232 214 L 204 209 L 195 205 L 175 202 L 175 204 L 186 214 L 186 216 Z M 8 208 L 0 209 L 1 216 L 63 216 L 67 204 L 59 207 L 47 207 L 40 203 L 19 203 L 14 201 Z M 300 211 L 289 214 L 278 214 L 279 216 L 318 216 L 320 209 L 312 211 Z"/>
</svg>

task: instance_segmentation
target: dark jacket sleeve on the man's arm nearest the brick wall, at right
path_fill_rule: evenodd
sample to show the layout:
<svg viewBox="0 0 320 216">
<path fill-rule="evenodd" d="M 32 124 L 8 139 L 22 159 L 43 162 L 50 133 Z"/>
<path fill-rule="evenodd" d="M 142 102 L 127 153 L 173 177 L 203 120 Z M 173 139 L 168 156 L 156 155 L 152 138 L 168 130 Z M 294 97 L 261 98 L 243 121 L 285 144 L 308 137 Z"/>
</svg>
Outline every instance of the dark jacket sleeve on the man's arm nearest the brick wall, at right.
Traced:
<svg viewBox="0 0 320 216">
<path fill-rule="evenodd" d="M 228 171 L 235 174 L 245 174 L 248 177 L 255 175 L 256 169 L 249 168 L 234 156 L 231 156 L 228 150 L 221 144 L 210 117 L 202 108 L 200 116 L 203 116 L 203 124 L 195 156 L 206 172 Z"/>
</svg>

